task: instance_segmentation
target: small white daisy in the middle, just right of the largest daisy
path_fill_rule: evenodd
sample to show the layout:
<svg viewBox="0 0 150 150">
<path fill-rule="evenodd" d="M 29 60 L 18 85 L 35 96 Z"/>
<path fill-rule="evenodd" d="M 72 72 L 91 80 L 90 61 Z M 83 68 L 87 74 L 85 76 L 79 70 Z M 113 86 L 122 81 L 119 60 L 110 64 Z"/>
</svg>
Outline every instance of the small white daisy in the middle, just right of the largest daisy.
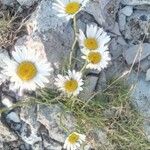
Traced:
<svg viewBox="0 0 150 150">
<path fill-rule="evenodd" d="M 67 76 L 57 75 L 55 85 L 58 89 L 68 95 L 78 95 L 83 90 L 82 74 L 80 72 L 68 71 Z"/>
</svg>

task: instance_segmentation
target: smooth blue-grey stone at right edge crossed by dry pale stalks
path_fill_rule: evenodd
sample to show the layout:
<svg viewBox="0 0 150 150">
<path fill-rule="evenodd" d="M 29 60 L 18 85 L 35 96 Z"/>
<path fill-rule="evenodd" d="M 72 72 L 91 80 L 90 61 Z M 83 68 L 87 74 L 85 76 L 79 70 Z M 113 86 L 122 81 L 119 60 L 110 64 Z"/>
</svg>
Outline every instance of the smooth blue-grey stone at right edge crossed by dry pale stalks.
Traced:
<svg viewBox="0 0 150 150">
<path fill-rule="evenodd" d="M 134 59 L 136 59 L 136 64 L 150 55 L 150 44 L 132 45 L 124 51 L 123 55 L 129 65 L 133 63 Z"/>
</svg>

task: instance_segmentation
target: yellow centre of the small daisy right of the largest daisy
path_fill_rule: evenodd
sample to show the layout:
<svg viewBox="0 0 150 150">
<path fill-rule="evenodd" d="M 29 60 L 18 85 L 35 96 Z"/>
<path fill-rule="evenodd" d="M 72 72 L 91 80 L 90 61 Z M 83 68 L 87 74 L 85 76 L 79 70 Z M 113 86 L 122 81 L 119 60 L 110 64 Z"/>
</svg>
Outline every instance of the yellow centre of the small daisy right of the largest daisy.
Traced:
<svg viewBox="0 0 150 150">
<path fill-rule="evenodd" d="M 74 92 L 78 88 L 78 82 L 76 80 L 68 80 L 65 82 L 65 90 L 67 92 Z"/>
</svg>

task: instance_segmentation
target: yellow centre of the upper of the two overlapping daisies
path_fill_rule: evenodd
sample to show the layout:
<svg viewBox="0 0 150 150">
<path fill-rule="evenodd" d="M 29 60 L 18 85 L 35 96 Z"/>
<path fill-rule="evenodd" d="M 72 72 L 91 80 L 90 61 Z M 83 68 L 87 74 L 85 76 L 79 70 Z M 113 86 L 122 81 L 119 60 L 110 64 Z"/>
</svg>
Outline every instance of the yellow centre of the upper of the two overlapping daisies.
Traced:
<svg viewBox="0 0 150 150">
<path fill-rule="evenodd" d="M 84 45 L 89 50 L 96 50 L 98 48 L 98 43 L 95 38 L 87 38 L 84 40 Z"/>
</svg>

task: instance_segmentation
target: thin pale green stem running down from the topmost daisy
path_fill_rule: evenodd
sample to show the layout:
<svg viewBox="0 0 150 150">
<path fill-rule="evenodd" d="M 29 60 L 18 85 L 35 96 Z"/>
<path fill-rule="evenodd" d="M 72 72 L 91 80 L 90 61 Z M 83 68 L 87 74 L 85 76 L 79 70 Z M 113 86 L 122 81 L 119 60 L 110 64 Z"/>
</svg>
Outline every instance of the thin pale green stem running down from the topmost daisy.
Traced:
<svg viewBox="0 0 150 150">
<path fill-rule="evenodd" d="M 73 17 L 73 30 L 74 30 L 74 42 L 72 44 L 71 51 L 70 51 L 69 68 L 71 68 L 73 53 L 74 53 L 75 46 L 76 46 L 76 43 L 77 43 L 77 37 L 76 37 L 76 34 L 77 34 L 76 16 Z"/>
</svg>

